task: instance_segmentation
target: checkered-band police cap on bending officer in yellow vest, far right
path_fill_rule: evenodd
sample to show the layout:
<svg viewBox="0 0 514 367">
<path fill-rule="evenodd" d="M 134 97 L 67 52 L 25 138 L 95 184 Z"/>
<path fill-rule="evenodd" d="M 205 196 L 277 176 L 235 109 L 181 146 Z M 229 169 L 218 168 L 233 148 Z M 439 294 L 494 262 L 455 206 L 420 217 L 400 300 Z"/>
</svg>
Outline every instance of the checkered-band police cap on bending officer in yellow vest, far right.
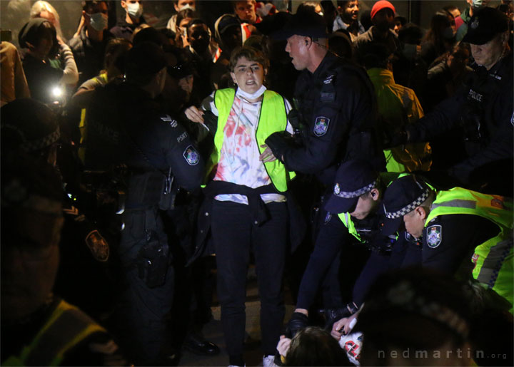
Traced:
<svg viewBox="0 0 514 367">
<path fill-rule="evenodd" d="M 382 233 L 389 236 L 396 232 L 403 222 L 403 216 L 427 200 L 430 191 L 430 187 L 419 176 L 406 175 L 394 180 L 385 190 Z"/>
</svg>

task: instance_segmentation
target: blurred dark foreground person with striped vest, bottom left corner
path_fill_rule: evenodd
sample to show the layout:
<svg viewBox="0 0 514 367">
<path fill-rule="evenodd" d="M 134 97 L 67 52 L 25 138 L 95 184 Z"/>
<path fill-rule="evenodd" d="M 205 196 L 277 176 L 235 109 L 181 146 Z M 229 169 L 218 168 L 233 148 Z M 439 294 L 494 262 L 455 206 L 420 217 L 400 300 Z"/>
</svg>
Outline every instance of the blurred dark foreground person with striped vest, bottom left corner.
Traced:
<svg viewBox="0 0 514 367">
<path fill-rule="evenodd" d="M 24 150 L 1 158 L 2 365 L 126 365 L 102 326 L 52 293 L 64 222 L 58 173 Z"/>
</svg>

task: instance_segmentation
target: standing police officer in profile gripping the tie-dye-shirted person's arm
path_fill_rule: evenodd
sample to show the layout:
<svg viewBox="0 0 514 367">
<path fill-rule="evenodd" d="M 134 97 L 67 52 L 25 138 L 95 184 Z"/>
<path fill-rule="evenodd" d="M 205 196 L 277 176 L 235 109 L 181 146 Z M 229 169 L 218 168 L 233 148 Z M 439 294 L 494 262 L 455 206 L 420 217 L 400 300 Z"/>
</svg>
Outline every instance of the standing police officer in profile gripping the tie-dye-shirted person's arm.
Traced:
<svg viewBox="0 0 514 367">
<path fill-rule="evenodd" d="M 288 170 L 316 175 L 331 187 L 339 162 L 372 160 L 381 169 L 384 157 L 373 133 L 376 98 L 368 76 L 328 52 L 326 23 L 313 11 L 291 17 L 278 38 L 286 38 L 293 66 L 303 71 L 295 88 L 301 145 L 287 134 L 273 133 L 266 144 Z"/>
</svg>

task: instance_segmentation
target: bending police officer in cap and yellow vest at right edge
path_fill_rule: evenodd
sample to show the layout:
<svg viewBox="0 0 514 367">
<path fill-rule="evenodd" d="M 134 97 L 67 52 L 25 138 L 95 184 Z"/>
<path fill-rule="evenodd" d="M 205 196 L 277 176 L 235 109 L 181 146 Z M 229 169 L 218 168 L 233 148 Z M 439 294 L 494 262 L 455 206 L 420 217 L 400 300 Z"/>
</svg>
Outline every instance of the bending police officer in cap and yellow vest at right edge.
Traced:
<svg viewBox="0 0 514 367">
<path fill-rule="evenodd" d="M 405 175 L 385 192 L 383 234 L 402 222 L 423 239 L 423 267 L 447 274 L 472 272 L 513 306 L 513 202 L 461 187 L 432 190 L 420 177 Z M 471 254 L 473 254 L 471 256 Z"/>
</svg>

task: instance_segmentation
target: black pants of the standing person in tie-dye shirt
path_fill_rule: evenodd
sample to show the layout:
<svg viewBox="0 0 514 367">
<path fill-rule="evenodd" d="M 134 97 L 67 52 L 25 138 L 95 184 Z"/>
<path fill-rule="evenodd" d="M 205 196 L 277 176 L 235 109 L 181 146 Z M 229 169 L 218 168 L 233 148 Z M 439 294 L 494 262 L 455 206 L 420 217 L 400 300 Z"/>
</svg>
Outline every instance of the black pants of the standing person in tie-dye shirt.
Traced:
<svg viewBox="0 0 514 367">
<path fill-rule="evenodd" d="M 270 219 L 253 224 L 248 205 L 213 200 L 211 231 L 216 250 L 221 324 L 231 363 L 241 363 L 245 335 L 246 273 L 250 250 L 256 261 L 261 298 L 262 348 L 275 354 L 285 314 L 282 277 L 288 211 L 284 202 L 266 205 Z M 241 358 L 241 359 L 239 359 Z"/>
</svg>

